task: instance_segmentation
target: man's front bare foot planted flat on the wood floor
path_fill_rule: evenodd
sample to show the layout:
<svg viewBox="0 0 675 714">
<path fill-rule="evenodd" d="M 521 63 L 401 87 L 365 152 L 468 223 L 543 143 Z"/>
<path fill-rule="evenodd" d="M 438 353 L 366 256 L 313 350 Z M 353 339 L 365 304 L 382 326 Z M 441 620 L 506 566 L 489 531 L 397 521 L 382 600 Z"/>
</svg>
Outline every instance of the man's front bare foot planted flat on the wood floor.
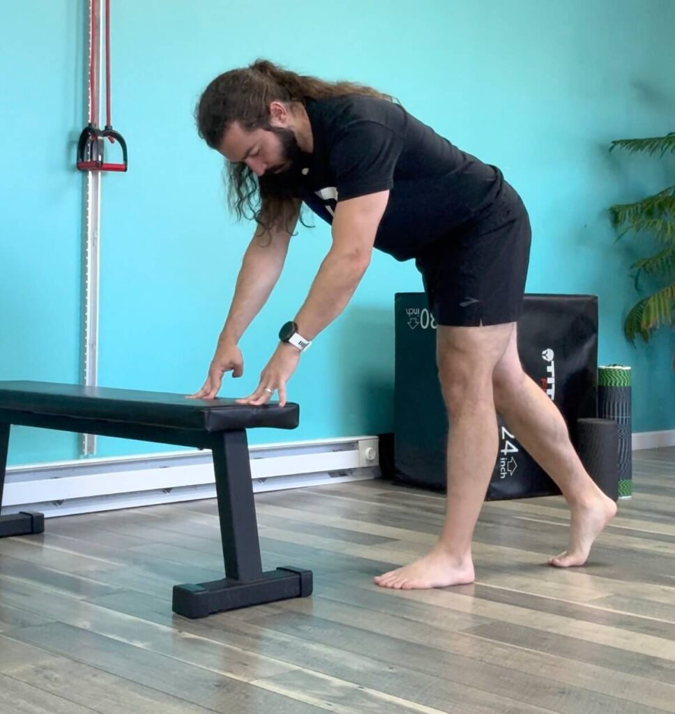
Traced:
<svg viewBox="0 0 675 714">
<path fill-rule="evenodd" d="M 381 588 L 396 590 L 421 590 L 446 588 L 449 585 L 468 585 L 474 582 L 474 564 L 471 558 L 458 560 L 445 550 L 433 548 L 430 553 L 404 568 L 391 570 L 374 578 Z"/>
</svg>

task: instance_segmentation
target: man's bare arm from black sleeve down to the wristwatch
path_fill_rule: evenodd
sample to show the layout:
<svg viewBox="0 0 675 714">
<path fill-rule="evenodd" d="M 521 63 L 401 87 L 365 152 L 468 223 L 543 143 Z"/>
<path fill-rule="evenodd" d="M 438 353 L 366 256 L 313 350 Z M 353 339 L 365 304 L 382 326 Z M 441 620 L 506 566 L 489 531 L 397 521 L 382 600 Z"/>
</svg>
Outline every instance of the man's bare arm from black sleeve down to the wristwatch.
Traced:
<svg viewBox="0 0 675 714">
<path fill-rule="evenodd" d="M 333 244 L 321 263 L 309 295 L 295 317 L 298 332 L 313 340 L 345 308 L 368 268 L 389 191 L 337 204 Z"/>
</svg>

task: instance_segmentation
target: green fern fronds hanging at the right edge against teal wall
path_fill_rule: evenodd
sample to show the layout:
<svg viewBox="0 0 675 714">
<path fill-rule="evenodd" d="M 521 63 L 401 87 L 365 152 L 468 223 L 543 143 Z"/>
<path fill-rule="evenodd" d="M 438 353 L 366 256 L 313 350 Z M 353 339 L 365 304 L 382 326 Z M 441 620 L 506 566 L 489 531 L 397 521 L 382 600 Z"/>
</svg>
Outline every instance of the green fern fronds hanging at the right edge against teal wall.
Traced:
<svg viewBox="0 0 675 714">
<path fill-rule="evenodd" d="M 631 154 L 641 152 L 661 157 L 675 154 L 675 132 L 651 139 L 617 139 L 611 142 L 610 151 L 617 147 Z M 657 328 L 675 328 L 675 185 L 635 203 L 616 204 L 609 210 L 614 228 L 620 231 L 619 238 L 634 231 L 649 234 L 659 243 L 654 255 L 640 258 L 631 268 L 636 270 L 637 289 L 641 276 L 653 276 L 662 284 L 636 302 L 624 321 L 624 334 L 631 343 L 638 335 L 649 342 Z"/>
</svg>

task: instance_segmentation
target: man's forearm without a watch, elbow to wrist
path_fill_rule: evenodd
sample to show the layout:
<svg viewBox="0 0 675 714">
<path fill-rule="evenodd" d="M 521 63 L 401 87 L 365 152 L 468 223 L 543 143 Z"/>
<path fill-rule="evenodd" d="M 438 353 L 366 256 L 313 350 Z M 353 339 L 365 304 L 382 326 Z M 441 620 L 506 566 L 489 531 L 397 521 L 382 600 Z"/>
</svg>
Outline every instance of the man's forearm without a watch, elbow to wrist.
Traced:
<svg viewBox="0 0 675 714">
<path fill-rule="evenodd" d="M 283 258 L 268 248 L 246 251 L 236 279 L 234 298 L 220 340 L 236 344 L 269 298 L 284 266 Z"/>
</svg>

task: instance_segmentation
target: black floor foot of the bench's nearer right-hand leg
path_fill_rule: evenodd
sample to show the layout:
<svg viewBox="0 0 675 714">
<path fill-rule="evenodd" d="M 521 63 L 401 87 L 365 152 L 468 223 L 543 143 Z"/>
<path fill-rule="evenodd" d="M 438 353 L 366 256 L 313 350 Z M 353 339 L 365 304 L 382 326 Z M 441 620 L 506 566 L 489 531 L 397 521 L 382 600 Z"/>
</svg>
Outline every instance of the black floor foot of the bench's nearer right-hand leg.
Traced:
<svg viewBox="0 0 675 714">
<path fill-rule="evenodd" d="M 311 595 L 311 570 L 276 568 L 256 580 L 212 580 L 199 585 L 174 585 L 174 613 L 186 618 L 204 618 L 226 610 L 273 603 Z"/>
</svg>

